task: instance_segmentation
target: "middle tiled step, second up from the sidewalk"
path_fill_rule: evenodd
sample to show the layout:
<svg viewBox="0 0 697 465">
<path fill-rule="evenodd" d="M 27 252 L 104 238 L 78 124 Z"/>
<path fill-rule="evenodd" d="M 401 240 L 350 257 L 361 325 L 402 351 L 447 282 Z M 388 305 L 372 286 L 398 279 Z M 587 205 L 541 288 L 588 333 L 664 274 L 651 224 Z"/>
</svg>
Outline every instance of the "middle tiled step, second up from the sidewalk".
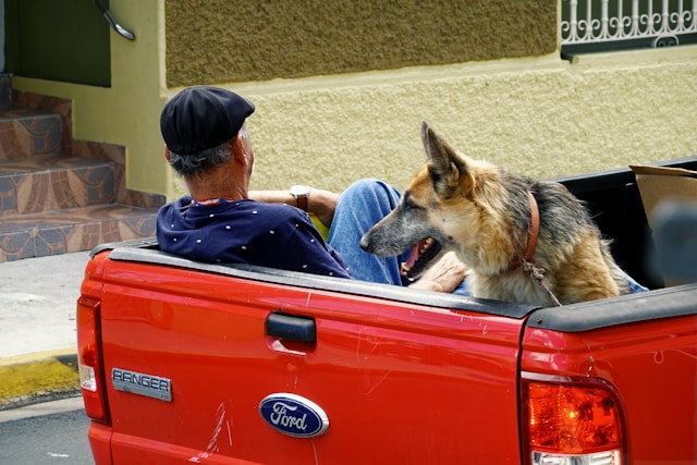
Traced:
<svg viewBox="0 0 697 465">
<path fill-rule="evenodd" d="M 113 164 L 62 154 L 0 161 L 0 219 L 112 204 Z"/>
</svg>

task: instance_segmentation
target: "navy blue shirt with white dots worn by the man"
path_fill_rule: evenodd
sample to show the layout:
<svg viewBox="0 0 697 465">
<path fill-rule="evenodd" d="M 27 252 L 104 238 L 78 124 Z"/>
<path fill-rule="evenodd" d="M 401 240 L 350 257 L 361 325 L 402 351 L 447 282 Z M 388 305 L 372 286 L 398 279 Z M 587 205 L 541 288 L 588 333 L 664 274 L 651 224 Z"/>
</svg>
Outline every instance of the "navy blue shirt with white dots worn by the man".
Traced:
<svg viewBox="0 0 697 465">
<path fill-rule="evenodd" d="M 199 205 L 184 196 L 160 208 L 157 238 L 163 252 L 197 261 L 351 277 L 307 213 L 284 204 L 244 199 Z"/>
</svg>

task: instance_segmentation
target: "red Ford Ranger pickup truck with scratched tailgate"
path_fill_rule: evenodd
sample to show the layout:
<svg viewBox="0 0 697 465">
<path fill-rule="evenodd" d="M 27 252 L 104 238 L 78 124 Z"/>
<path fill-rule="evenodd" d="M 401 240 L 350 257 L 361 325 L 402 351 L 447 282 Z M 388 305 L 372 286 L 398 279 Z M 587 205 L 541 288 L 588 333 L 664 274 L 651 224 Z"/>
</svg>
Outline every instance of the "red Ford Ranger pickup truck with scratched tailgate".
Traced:
<svg viewBox="0 0 697 465">
<path fill-rule="evenodd" d="M 96 248 L 77 302 L 96 463 L 697 463 L 697 284 L 647 271 L 629 169 L 560 181 L 651 291 L 537 308 Z"/>
</svg>

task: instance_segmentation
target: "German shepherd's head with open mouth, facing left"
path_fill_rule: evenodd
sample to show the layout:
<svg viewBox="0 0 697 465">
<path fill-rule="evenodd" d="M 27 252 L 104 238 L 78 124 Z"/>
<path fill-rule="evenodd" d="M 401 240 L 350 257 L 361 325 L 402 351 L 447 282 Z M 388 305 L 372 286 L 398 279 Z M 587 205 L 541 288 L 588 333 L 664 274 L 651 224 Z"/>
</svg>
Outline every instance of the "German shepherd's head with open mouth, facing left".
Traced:
<svg viewBox="0 0 697 465">
<path fill-rule="evenodd" d="M 496 215 L 496 209 L 482 208 L 480 197 L 482 191 L 496 189 L 496 182 L 493 187 L 485 184 L 499 178 L 497 167 L 458 152 L 426 122 L 421 138 L 426 166 L 412 179 L 398 207 L 360 240 L 366 252 L 394 256 L 428 238 L 429 253 L 412 267 L 411 277 L 448 250 L 466 265 L 479 261 L 487 217 Z"/>
</svg>

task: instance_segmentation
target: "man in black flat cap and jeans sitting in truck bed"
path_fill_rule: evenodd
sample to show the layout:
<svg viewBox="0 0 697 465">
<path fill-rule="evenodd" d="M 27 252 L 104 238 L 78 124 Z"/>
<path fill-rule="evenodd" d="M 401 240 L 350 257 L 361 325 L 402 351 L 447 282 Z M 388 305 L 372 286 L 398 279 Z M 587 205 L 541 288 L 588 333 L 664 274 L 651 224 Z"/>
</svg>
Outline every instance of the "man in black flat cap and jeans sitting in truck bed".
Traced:
<svg viewBox="0 0 697 465">
<path fill-rule="evenodd" d="M 243 97 L 210 86 L 186 88 L 164 106 L 160 117 L 164 156 L 189 195 L 160 209 L 160 248 L 199 261 L 400 284 L 399 261 L 404 257 L 380 258 L 358 247 L 363 233 L 394 208 L 396 191 L 379 182 L 357 183 L 342 194 L 339 205 L 338 195 L 309 187 L 295 196 L 249 192 L 254 151 L 245 121 L 254 111 Z M 339 253 L 303 210 L 331 225 L 330 244 L 333 237 Z M 463 278 L 464 267 L 449 257 L 414 286 L 451 292 Z"/>
</svg>

